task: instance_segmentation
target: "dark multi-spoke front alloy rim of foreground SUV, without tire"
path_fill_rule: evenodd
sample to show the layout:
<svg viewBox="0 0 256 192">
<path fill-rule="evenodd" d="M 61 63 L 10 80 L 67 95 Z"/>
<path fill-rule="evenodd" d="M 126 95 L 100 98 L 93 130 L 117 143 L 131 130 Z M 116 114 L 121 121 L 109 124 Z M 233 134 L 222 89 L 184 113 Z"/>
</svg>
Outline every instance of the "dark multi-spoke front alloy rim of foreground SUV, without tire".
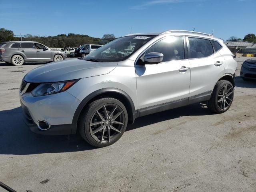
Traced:
<svg viewBox="0 0 256 192">
<path fill-rule="evenodd" d="M 98 108 L 90 120 L 90 134 L 100 143 L 109 143 L 122 133 L 125 116 L 116 104 L 105 104 Z"/>
</svg>

